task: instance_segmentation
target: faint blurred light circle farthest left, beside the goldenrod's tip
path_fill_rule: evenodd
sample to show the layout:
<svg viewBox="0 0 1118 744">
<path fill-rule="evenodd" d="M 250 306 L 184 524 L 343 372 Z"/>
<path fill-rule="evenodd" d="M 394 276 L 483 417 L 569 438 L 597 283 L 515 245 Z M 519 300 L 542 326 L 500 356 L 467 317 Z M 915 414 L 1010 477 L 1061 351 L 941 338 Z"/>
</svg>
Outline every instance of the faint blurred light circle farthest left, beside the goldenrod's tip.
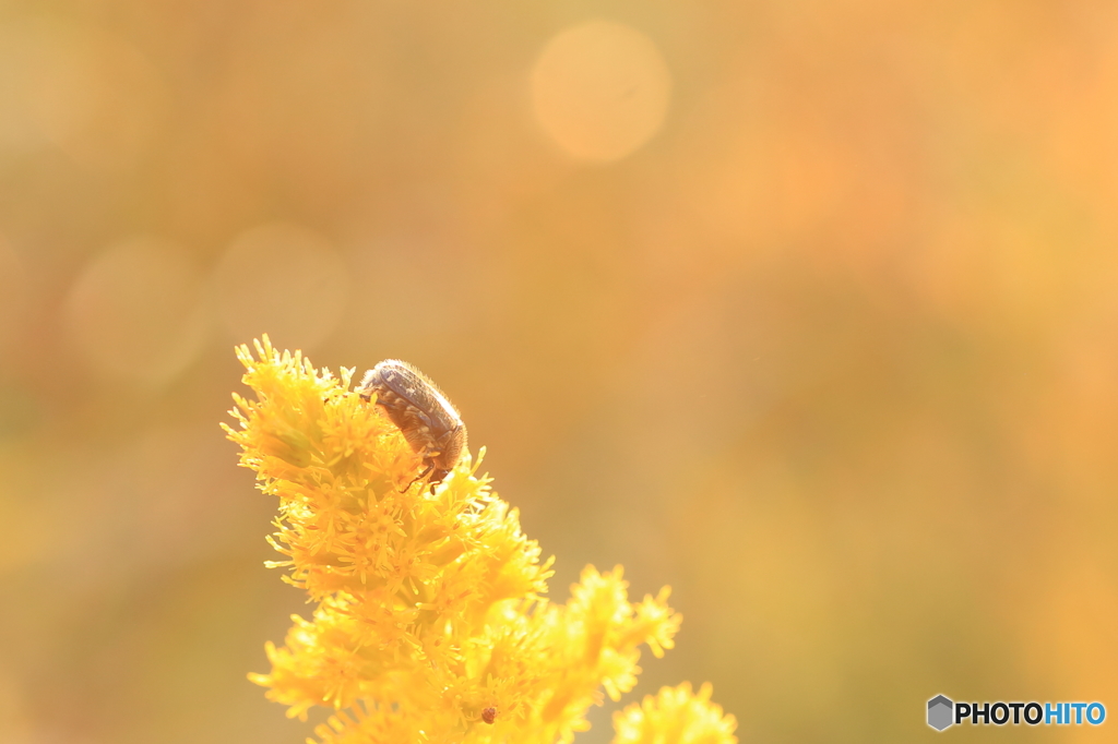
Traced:
<svg viewBox="0 0 1118 744">
<path fill-rule="evenodd" d="M 161 383 L 201 350 L 201 289 L 202 276 L 183 249 L 133 238 L 85 267 L 67 298 L 65 323 L 97 371 Z"/>
</svg>

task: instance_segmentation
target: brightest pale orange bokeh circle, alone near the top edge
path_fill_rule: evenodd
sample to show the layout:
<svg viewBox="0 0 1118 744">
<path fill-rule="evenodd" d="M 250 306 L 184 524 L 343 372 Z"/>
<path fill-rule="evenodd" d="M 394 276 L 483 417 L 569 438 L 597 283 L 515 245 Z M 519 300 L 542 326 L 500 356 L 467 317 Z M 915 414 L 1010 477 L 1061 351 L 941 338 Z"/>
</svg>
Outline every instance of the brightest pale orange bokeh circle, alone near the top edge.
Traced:
<svg viewBox="0 0 1118 744">
<path fill-rule="evenodd" d="M 663 125 L 671 74 L 648 37 L 598 20 L 548 42 L 531 88 L 536 116 L 560 147 L 579 160 L 613 161 Z"/>
</svg>

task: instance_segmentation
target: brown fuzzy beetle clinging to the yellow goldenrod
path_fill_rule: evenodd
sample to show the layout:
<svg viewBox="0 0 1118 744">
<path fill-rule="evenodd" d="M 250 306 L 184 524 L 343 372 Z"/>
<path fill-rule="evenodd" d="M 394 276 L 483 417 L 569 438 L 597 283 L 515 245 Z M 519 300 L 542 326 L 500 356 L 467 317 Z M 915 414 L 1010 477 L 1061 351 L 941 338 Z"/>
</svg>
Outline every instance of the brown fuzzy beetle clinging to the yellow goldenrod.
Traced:
<svg viewBox="0 0 1118 744">
<path fill-rule="evenodd" d="M 458 411 L 430 378 L 398 359 L 386 359 L 364 373 L 360 395 L 370 400 L 373 394 L 411 451 L 423 457 L 424 470 L 411 483 L 429 475 L 434 489 L 466 448 L 466 425 Z"/>
</svg>

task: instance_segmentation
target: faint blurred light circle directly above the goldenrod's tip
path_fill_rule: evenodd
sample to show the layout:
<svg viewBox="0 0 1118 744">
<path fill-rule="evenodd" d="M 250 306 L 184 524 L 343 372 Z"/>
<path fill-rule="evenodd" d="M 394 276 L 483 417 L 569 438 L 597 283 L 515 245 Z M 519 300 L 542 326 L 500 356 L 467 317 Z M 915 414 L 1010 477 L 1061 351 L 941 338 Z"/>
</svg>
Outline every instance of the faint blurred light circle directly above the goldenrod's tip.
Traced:
<svg viewBox="0 0 1118 744">
<path fill-rule="evenodd" d="M 310 349 L 338 326 L 349 303 L 349 268 L 322 236 L 277 222 L 238 236 L 217 268 L 218 306 L 237 341 L 268 333 Z"/>
</svg>

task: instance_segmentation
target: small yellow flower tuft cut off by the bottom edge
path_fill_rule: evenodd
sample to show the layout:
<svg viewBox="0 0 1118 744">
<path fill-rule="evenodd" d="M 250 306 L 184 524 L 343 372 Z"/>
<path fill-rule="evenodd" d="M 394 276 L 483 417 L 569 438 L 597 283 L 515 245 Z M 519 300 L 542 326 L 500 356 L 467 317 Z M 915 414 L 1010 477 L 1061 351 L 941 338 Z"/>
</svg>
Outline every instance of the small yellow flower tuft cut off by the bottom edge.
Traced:
<svg viewBox="0 0 1118 744">
<path fill-rule="evenodd" d="M 613 744 L 737 744 L 738 722 L 710 702 L 710 683 L 691 691 L 691 683 L 664 687 L 614 714 Z"/>
</svg>

